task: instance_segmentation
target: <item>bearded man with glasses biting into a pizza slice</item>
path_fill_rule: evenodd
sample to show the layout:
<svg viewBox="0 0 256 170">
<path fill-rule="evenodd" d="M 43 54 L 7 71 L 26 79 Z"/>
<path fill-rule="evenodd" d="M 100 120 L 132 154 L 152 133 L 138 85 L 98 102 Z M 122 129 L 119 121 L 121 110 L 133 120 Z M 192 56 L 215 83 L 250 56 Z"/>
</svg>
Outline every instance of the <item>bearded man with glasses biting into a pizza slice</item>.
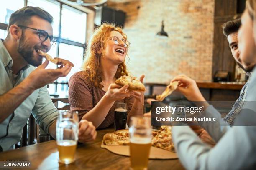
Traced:
<svg viewBox="0 0 256 170">
<path fill-rule="evenodd" d="M 56 135 L 58 110 L 46 85 L 66 76 L 74 65 L 60 58 L 58 69 L 45 69 L 48 60 L 42 64 L 38 50 L 48 52 L 51 48 L 52 20 L 49 13 L 38 7 L 23 7 L 11 15 L 8 35 L 0 40 L 1 152 L 18 143 L 31 112 L 44 131 Z M 80 122 L 80 142 L 93 140 L 96 134 L 91 122 Z"/>
</svg>

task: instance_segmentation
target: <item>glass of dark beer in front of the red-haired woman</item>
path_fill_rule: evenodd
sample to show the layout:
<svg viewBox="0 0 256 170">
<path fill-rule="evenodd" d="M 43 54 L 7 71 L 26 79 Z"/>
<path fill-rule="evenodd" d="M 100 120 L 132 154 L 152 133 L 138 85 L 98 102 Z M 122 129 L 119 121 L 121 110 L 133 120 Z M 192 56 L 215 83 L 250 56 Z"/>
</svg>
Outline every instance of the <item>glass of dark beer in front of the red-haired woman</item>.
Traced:
<svg viewBox="0 0 256 170">
<path fill-rule="evenodd" d="M 127 104 L 116 103 L 115 104 L 115 130 L 125 129 L 127 121 Z"/>
</svg>

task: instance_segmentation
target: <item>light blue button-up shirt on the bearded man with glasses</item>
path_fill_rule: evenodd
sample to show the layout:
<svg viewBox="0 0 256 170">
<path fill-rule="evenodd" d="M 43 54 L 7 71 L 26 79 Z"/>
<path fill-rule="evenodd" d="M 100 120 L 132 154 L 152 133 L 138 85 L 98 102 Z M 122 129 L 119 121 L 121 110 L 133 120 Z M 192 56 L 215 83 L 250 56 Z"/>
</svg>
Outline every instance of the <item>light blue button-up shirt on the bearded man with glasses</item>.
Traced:
<svg viewBox="0 0 256 170">
<path fill-rule="evenodd" d="M 0 95 L 20 84 L 36 69 L 32 65 L 27 65 L 14 78 L 12 66 L 13 60 L 0 40 Z M 12 149 L 13 145 L 20 141 L 22 129 L 31 113 L 40 128 L 49 133 L 48 128 L 58 117 L 58 110 L 54 107 L 46 86 L 35 90 L 14 110 L 13 114 L 0 123 L 0 148 L 3 151 Z"/>
</svg>

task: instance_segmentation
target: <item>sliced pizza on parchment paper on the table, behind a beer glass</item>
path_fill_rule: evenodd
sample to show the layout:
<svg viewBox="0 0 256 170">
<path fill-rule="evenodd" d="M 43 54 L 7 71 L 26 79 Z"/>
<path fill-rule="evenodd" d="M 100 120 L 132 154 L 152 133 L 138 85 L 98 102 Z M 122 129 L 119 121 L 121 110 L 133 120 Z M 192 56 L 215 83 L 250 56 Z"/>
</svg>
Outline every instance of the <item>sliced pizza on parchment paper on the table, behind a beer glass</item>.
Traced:
<svg viewBox="0 0 256 170">
<path fill-rule="evenodd" d="M 175 152 L 171 128 L 170 126 L 161 126 L 159 131 L 152 130 L 152 146 Z M 129 130 L 122 129 L 107 133 L 103 137 L 103 143 L 105 145 L 128 145 L 130 143 Z"/>
</svg>

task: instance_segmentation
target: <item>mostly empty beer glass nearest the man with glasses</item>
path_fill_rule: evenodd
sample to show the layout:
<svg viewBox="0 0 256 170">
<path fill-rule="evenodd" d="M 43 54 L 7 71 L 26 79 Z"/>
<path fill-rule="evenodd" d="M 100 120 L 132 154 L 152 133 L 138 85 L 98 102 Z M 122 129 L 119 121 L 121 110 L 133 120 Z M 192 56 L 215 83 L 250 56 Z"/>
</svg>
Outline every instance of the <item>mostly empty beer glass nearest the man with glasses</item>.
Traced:
<svg viewBox="0 0 256 170">
<path fill-rule="evenodd" d="M 78 113 L 60 111 L 56 123 L 56 141 L 59 150 L 59 162 L 69 164 L 74 162 L 74 154 L 78 140 Z"/>
</svg>

